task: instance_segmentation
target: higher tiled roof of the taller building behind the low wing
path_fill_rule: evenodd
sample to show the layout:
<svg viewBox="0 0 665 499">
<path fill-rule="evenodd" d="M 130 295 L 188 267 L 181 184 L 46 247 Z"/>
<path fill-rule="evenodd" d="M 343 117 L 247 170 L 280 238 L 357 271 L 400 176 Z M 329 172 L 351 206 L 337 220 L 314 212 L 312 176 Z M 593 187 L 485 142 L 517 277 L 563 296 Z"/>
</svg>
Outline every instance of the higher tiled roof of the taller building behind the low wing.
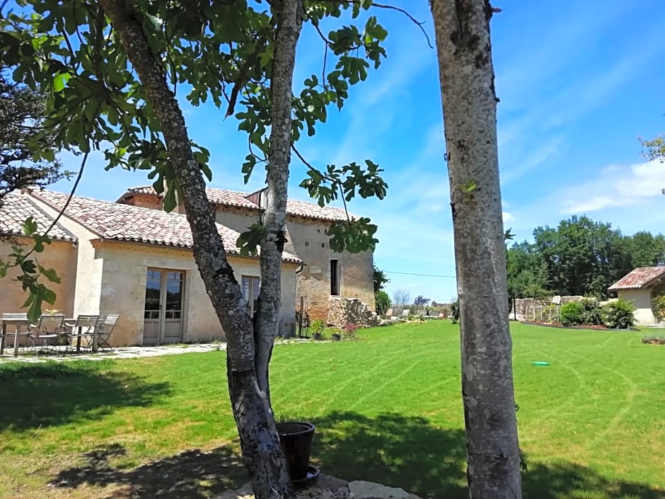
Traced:
<svg viewBox="0 0 665 499">
<path fill-rule="evenodd" d="M 131 194 L 150 194 L 157 195 L 156 191 L 151 185 L 142 185 L 141 187 L 134 187 L 127 190 L 127 193 L 120 197 L 122 200 L 125 196 Z M 209 187 L 206 188 L 206 194 L 210 202 L 216 205 L 224 206 L 237 206 L 243 208 L 257 209 L 258 205 L 247 199 L 248 193 L 241 193 L 237 190 L 226 190 Z M 316 203 L 300 201 L 295 199 L 287 200 L 287 213 L 299 215 L 300 217 L 315 218 L 320 220 L 346 220 L 347 214 L 341 208 L 332 206 L 320 207 Z M 353 217 L 353 215 L 349 214 Z"/>
</svg>

